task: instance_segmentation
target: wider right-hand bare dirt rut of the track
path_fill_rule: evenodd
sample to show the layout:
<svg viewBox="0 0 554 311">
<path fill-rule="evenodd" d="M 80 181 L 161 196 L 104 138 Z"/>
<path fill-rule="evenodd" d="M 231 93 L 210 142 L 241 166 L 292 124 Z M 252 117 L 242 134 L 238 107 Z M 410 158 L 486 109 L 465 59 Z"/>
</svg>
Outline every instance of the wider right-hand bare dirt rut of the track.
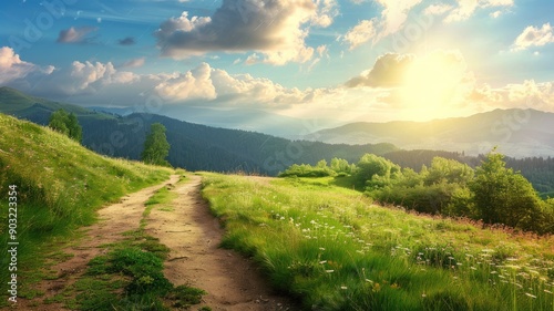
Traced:
<svg viewBox="0 0 554 311">
<path fill-rule="evenodd" d="M 276 296 L 255 265 L 230 250 L 218 248 L 219 222 L 201 197 L 201 177 L 173 189 L 178 195 L 170 208 L 154 208 L 146 231 L 172 249 L 165 276 L 175 286 L 191 284 L 208 292 L 204 303 L 212 310 L 294 310 Z"/>
</svg>

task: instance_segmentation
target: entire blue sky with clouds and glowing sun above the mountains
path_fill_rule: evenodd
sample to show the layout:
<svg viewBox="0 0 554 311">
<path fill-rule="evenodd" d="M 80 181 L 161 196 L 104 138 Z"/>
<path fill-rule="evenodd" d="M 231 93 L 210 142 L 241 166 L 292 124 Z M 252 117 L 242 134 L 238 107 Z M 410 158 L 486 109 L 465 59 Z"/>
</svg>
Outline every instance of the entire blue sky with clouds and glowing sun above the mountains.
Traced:
<svg viewBox="0 0 554 311">
<path fill-rule="evenodd" d="M 554 112 L 552 12 L 552 0 L 2 1 L 0 85 L 341 123 Z"/>
</svg>

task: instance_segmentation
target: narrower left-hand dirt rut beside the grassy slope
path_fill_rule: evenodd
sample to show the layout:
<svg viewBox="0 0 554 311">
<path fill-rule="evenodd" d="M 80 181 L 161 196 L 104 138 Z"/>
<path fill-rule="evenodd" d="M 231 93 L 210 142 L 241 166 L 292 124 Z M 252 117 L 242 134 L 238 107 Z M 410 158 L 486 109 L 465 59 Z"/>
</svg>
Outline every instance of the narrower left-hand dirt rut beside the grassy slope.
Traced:
<svg viewBox="0 0 554 311">
<path fill-rule="evenodd" d="M 176 184 L 179 176 L 173 175 L 171 178 L 160 185 L 144 188 L 137 193 L 127 195 L 122 198 L 121 203 L 107 206 L 99 210 L 99 221 L 93 226 L 85 227 L 85 237 L 80 239 L 75 245 L 64 249 L 65 252 L 72 253 L 73 257 L 66 261 L 50 267 L 51 270 L 58 271 L 55 280 L 44 280 L 38 287 L 38 290 L 45 292 L 44 297 L 34 300 L 19 299 L 16 307 L 17 310 L 40 310 L 40 311 L 58 311 L 68 310 L 61 303 L 44 304 L 40 300 L 52 298 L 60 293 L 69 284 L 86 270 L 86 263 L 94 257 L 106 251 L 100 246 L 112 243 L 122 240 L 123 232 L 138 228 L 144 211 L 144 203 L 160 188 Z M 35 304 L 39 304 L 35 307 Z"/>
</svg>

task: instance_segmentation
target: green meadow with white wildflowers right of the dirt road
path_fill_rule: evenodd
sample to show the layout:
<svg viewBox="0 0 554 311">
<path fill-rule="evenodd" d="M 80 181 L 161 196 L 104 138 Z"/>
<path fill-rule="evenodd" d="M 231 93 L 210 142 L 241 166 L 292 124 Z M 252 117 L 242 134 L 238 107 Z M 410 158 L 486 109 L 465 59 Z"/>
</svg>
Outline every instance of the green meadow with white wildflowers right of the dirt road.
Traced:
<svg viewBox="0 0 554 311">
<path fill-rule="evenodd" d="M 331 180 L 206 174 L 203 195 L 307 310 L 554 310 L 554 237 L 372 205 Z"/>
</svg>

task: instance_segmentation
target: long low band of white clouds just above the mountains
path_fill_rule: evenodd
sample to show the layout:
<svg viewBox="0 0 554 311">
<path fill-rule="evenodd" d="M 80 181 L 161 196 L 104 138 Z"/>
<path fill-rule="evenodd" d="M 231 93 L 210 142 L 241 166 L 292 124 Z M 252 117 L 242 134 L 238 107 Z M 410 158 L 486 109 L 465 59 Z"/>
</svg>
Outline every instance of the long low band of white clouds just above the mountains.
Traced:
<svg viewBox="0 0 554 311">
<path fill-rule="evenodd" d="M 315 50 L 316 58 L 309 65 L 327 56 L 327 46 Z M 161 106 L 256 107 L 289 116 L 346 122 L 360 117 L 424 120 L 433 113 L 451 116 L 462 110 L 466 113 L 495 107 L 554 112 L 554 82 L 525 81 L 497 89 L 478 85 L 462 55 L 451 51 L 386 54 L 347 86 L 304 90 L 250 74 L 230 74 L 207 63 L 184 72 L 157 74 L 134 74 L 110 62 L 75 61 L 57 70 L 40 69 L 9 48 L 0 49 L 0 80 L 6 85 L 85 105 L 145 105 L 150 95 L 155 95 Z"/>
</svg>

